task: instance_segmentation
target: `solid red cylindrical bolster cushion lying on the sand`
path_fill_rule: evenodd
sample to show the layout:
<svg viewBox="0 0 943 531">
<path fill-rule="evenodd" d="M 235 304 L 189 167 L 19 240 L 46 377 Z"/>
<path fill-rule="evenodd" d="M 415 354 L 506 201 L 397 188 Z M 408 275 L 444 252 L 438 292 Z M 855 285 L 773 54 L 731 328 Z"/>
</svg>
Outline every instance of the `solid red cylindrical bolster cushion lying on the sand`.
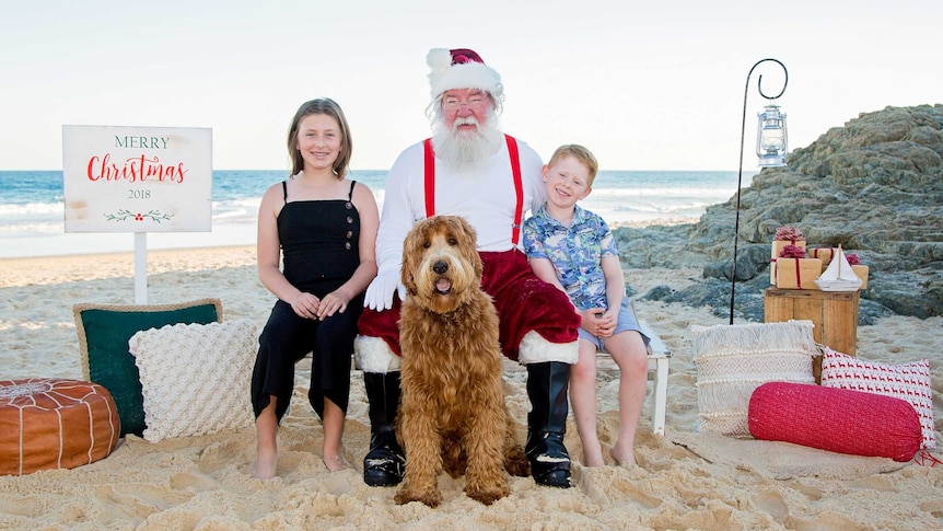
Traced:
<svg viewBox="0 0 943 531">
<path fill-rule="evenodd" d="M 807 383 L 758 386 L 747 422 L 757 439 L 901 462 L 922 440 L 917 412 L 900 399 Z"/>
</svg>

